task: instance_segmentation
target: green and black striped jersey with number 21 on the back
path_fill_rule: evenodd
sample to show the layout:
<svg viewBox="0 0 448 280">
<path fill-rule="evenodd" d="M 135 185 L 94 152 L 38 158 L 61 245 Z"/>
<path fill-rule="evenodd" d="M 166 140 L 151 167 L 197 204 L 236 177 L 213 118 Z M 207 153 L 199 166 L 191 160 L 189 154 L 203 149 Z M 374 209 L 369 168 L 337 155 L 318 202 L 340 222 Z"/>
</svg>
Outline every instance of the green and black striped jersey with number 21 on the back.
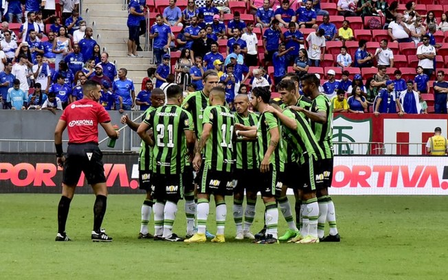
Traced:
<svg viewBox="0 0 448 280">
<path fill-rule="evenodd" d="M 190 113 L 177 105 L 165 105 L 151 112 L 144 120 L 153 128 L 153 172 L 181 174 L 187 154 L 184 130 L 193 131 Z"/>
</svg>

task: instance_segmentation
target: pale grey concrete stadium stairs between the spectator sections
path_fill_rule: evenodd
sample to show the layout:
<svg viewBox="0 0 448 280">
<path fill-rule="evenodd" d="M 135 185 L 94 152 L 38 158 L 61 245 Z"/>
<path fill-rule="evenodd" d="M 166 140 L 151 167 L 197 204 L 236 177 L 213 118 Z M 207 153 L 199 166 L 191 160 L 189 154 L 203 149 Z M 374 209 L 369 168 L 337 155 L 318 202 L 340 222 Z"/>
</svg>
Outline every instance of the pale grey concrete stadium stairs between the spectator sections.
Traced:
<svg viewBox="0 0 448 280">
<path fill-rule="evenodd" d="M 109 61 L 114 62 L 117 69 L 126 68 L 128 78 L 135 84 L 138 93 L 146 69 L 152 61 L 152 51 L 138 51 L 142 58 L 127 56 L 128 19 L 127 5 L 123 0 L 82 0 L 82 17 L 93 28 L 93 36 L 104 51 L 109 53 Z M 144 37 L 140 38 L 142 47 Z"/>
</svg>

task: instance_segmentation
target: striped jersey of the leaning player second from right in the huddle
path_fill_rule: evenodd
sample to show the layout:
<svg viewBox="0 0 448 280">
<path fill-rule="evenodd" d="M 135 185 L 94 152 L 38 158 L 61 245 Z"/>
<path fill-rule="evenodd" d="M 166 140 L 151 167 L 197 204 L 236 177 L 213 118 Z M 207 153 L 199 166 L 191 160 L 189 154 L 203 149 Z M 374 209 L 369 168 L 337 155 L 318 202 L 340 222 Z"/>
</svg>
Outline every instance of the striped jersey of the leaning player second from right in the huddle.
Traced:
<svg viewBox="0 0 448 280">
<path fill-rule="evenodd" d="M 284 110 L 283 114 L 291 119 L 295 119 L 297 124 L 296 130 L 291 130 L 287 126 L 282 126 L 282 130 L 285 140 L 291 146 L 291 150 L 295 152 L 298 163 L 303 164 L 310 158 L 316 161 L 324 159 L 324 152 L 320 148 L 319 143 L 317 143 L 309 122 L 306 121 L 303 115 L 290 109 Z"/>
</svg>

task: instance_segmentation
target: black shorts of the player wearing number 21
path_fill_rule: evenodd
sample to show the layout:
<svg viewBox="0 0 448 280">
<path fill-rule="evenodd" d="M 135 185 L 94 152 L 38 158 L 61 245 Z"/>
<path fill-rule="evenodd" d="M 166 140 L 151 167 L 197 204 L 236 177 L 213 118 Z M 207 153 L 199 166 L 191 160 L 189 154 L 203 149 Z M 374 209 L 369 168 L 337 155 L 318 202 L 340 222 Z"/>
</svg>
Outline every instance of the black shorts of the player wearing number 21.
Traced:
<svg viewBox="0 0 448 280">
<path fill-rule="evenodd" d="M 183 175 L 164 175 L 153 173 L 154 198 L 177 202 L 183 198 Z"/>
</svg>

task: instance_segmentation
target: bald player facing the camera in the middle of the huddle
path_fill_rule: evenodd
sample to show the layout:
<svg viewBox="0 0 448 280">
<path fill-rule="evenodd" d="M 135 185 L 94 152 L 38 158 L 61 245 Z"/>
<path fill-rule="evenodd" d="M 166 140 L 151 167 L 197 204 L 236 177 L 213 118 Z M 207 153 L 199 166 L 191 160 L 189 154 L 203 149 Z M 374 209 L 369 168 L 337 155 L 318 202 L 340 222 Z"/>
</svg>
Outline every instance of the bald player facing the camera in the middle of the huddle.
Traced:
<svg viewBox="0 0 448 280">
<path fill-rule="evenodd" d="M 249 112 L 249 97 L 247 94 L 238 94 L 234 100 L 236 108 L 235 122 L 243 126 L 256 126 L 258 116 Z M 254 222 L 255 205 L 257 201 L 259 171 L 256 162 L 257 145 L 254 141 L 236 142 L 236 166 L 234 178 L 236 186 L 234 189 L 234 221 L 236 224 L 236 240 L 248 238 L 254 240 L 255 237 L 250 231 Z M 246 209 L 243 211 L 244 191 L 246 191 Z M 244 226 L 243 226 L 244 213 Z"/>
</svg>

